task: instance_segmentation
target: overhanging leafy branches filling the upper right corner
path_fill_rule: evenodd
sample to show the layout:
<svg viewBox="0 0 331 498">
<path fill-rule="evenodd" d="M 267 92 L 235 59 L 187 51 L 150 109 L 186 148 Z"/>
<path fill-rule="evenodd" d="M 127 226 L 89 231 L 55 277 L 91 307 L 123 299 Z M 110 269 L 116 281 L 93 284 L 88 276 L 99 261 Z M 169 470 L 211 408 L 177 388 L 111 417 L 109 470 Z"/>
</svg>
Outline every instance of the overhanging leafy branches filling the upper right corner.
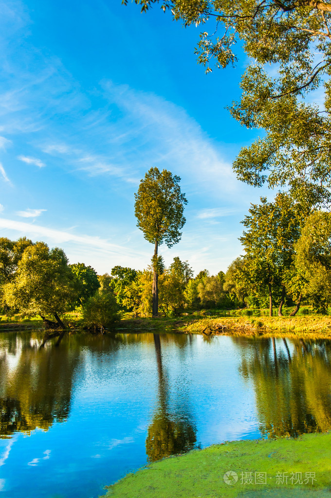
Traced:
<svg viewBox="0 0 331 498">
<path fill-rule="evenodd" d="M 127 3 L 127 0 L 122 0 Z M 254 186 L 289 186 L 309 205 L 330 200 L 331 4 L 313 0 L 135 0 L 146 11 L 161 8 L 185 26 L 207 26 L 196 48 L 198 61 L 234 65 L 236 42 L 247 65 L 242 96 L 230 111 L 266 135 L 243 147 L 234 163 L 238 178 Z M 206 29 L 208 28 L 208 31 Z M 305 102 L 324 93 L 324 108 Z M 322 106 L 321 106 L 322 107 Z"/>
</svg>

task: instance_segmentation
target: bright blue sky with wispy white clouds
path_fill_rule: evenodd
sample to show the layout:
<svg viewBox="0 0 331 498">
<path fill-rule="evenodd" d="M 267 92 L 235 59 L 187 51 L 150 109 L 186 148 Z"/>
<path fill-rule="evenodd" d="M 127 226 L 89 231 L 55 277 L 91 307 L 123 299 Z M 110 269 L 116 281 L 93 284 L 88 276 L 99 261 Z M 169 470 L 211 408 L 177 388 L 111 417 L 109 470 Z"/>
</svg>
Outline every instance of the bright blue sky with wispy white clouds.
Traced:
<svg viewBox="0 0 331 498">
<path fill-rule="evenodd" d="M 157 166 L 188 199 L 166 264 L 226 271 L 242 252 L 239 222 L 266 194 L 231 168 L 259 135 L 225 109 L 240 95 L 240 47 L 236 69 L 205 75 L 197 28 L 121 0 L 0 1 L 0 19 L 1 236 L 59 246 L 98 273 L 143 269 L 153 247 L 134 193 Z"/>
</svg>

